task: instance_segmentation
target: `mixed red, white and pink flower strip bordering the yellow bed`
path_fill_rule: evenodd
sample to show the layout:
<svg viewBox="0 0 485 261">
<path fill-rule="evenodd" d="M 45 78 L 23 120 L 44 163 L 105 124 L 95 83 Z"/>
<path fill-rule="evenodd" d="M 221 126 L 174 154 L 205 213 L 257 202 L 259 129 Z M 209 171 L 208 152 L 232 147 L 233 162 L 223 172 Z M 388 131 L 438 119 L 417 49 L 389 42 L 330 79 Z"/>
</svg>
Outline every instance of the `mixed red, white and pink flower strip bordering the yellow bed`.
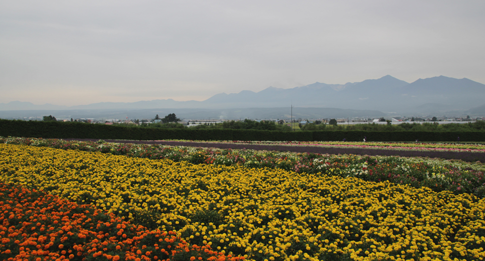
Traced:
<svg viewBox="0 0 485 261">
<path fill-rule="evenodd" d="M 485 165 L 457 160 L 231 150 L 147 144 L 78 142 L 57 139 L 0 138 L 0 143 L 26 144 L 64 150 L 102 152 L 148 159 L 187 161 L 193 164 L 244 166 L 389 181 L 433 191 L 472 193 L 485 197 Z"/>
</svg>

